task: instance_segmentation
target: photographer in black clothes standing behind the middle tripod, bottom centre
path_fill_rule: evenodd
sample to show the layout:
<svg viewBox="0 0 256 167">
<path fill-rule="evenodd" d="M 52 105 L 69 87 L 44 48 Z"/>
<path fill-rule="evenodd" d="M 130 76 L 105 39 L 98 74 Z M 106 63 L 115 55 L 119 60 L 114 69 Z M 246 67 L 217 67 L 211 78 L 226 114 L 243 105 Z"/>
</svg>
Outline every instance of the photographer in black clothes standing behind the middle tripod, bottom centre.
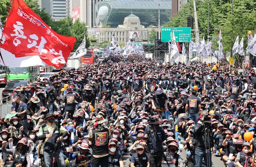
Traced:
<svg viewBox="0 0 256 167">
<path fill-rule="evenodd" d="M 161 167 L 162 164 L 162 157 L 163 157 L 163 153 L 162 153 L 162 149 L 163 149 L 163 145 L 162 143 L 164 142 L 164 140 L 166 139 L 166 135 L 164 133 L 164 129 L 159 126 L 159 117 L 158 115 L 154 115 L 152 116 L 152 119 L 156 119 L 156 123 L 153 126 L 154 131 L 156 132 L 156 136 L 152 136 L 152 134 L 150 133 L 150 128 L 151 126 L 147 126 L 145 128 L 145 132 L 144 132 L 144 139 L 145 140 L 149 140 L 149 143 L 147 145 L 146 151 L 148 153 L 148 161 L 150 163 L 150 166 L 156 166 L 156 167 Z M 151 150 L 154 150 L 154 155 L 153 155 L 153 159 L 151 159 Z"/>
</svg>

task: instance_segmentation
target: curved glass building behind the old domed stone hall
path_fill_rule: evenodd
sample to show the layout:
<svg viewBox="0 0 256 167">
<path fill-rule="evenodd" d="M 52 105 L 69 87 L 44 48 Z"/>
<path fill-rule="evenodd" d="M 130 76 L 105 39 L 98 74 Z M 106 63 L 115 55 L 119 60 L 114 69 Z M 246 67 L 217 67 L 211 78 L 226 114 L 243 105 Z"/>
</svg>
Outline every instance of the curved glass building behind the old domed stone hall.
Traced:
<svg viewBox="0 0 256 167">
<path fill-rule="evenodd" d="M 169 21 L 172 15 L 171 0 L 105 0 L 95 5 L 96 25 L 110 25 L 115 28 L 123 24 L 124 18 L 133 12 L 140 18 L 141 25 L 158 25 L 158 4 L 160 4 L 160 25 Z"/>
</svg>

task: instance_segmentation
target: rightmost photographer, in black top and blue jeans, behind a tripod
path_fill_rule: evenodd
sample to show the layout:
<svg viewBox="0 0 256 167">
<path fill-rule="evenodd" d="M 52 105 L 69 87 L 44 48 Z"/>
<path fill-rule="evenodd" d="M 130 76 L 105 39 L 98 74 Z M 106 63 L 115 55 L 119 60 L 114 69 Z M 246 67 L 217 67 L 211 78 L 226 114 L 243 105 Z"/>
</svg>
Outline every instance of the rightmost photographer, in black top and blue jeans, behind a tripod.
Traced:
<svg viewBox="0 0 256 167">
<path fill-rule="evenodd" d="M 197 138 L 199 140 L 197 146 L 196 146 L 196 151 L 195 151 L 195 160 L 196 160 L 196 165 L 195 167 L 200 167 L 202 166 L 202 160 L 204 158 L 206 167 L 211 167 L 212 166 L 212 153 L 211 153 L 211 148 L 213 147 L 213 141 L 211 139 L 211 134 L 208 133 L 208 131 L 203 131 L 206 126 L 204 124 L 204 116 L 208 116 L 207 111 L 200 111 L 198 113 L 200 121 L 195 125 L 195 132 L 196 136 L 201 136 L 200 138 Z M 209 126 L 210 127 L 210 126 Z M 209 140 L 208 140 L 209 139 Z"/>
</svg>

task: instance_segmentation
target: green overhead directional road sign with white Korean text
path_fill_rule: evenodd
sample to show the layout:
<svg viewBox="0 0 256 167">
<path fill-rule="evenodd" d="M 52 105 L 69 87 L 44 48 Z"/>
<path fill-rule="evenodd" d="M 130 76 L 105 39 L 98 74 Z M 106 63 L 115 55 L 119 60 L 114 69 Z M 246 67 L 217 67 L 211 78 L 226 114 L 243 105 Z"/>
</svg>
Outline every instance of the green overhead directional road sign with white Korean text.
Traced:
<svg viewBox="0 0 256 167">
<path fill-rule="evenodd" d="M 176 37 L 176 42 L 190 42 L 191 27 L 162 27 L 161 28 L 161 41 L 171 42 L 172 28 Z"/>
</svg>

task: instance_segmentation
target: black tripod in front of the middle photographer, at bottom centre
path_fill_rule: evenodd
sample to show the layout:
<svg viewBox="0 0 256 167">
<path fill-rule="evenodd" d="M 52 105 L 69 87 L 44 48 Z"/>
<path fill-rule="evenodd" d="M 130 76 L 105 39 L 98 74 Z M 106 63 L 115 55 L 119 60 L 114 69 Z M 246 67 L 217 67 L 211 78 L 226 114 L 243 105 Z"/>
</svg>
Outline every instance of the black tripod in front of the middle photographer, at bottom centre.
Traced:
<svg viewBox="0 0 256 167">
<path fill-rule="evenodd" d="M 155 124 L 150 124 L 150 126 L 149 126 L 149 131 L 148 131 L 148 138 L 147 138 L 146 146 L 145 146 L 145 149 L 144 149 L 142 155 L 144 155 L 144 153 L 145 153 L 145 151 L 146 151 L 146 147 L 147 147 L 147 145 L 149 144 L 149 138 L 150 138 L 151 136 L 153 136 L 153 140 L 156 139 L 156 141 L 157 141 L 157 143 L 158 143 L 159 146 L 162 146 L 162 142 L 159 141 L 158 136 L 156 135 Z M 155 167 L 155 163 L 154 163 L 154 152 L 155 152 L 155 150 L 154 150 L 154 144 L 153 144 L 153 148 L 150 147 L 150 155 L 151 155 L 151 158 L 150 158 L 150 159 L 151 159 L 151 162 L 150 162 L 150 163 L 151 163 L 151 167 Z M 160 152 L 163 154 L 164 161 L 166 161 L 168 167 L 170 167 L 170 165 L 169 165 L 169 163 L 168 163 L 168 161 L 167 161 L 167 159 L 166 159 L 166 156 L 164 155 L 164 152 L 163 152 L 162 150 L 161 150 Z M 141 161 L 142 161 L 142 158 L 140 159 L 140 164 L 141 164 Z M 140 165 L 139 165 L 139 167 L 140 167 Z"/>
</svg>

